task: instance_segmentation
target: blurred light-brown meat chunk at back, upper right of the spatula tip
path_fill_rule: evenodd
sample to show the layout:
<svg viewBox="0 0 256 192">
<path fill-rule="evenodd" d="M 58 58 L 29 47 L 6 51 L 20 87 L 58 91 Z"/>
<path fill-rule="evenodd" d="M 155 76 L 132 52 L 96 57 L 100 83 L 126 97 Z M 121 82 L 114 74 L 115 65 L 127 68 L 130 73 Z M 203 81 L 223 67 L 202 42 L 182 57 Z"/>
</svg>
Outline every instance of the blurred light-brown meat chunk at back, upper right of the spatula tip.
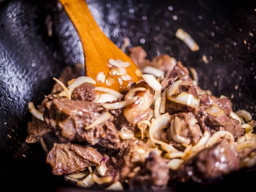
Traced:
<svg viewBox="0 0 256 192">
<path fill-rule="evenodd" d="M 177 64 L 176 59 L 166 54 L 154 57 L 150 63 L 152 67 L 158 68 L 163 72 L 165 72 L 165 75 L 164 75 L 165 77 L 170 76 L 176 64 Z"/>
</svg>

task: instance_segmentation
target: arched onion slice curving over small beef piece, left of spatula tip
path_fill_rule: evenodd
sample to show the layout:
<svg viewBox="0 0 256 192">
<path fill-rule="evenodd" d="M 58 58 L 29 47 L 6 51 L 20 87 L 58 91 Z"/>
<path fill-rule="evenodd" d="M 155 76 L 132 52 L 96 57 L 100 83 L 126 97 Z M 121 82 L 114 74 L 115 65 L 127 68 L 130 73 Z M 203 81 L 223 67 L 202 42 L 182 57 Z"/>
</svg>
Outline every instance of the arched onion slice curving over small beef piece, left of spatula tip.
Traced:
<svg viewBox="0 0 256 192">
<path fill-rule="evenodd" d="M 68 87 L 68 97 L 71 99 L 71 95 L 73 93 L 73 91 L 75 90 L 75 88 L 83 83 L 91 83 L 91 84 L 96 84 L 96 81 L 90 77 L 86 77 L 86 76 L 81 76 L 77 79 L 75 79 L 75 81 L 73 83 L 71 83 Z M 67 92 L 67 91 L 66 91 Z M 59 96 L 67 96 L 65 93 L 65 91 L 62 91 Z"/>
</svg>

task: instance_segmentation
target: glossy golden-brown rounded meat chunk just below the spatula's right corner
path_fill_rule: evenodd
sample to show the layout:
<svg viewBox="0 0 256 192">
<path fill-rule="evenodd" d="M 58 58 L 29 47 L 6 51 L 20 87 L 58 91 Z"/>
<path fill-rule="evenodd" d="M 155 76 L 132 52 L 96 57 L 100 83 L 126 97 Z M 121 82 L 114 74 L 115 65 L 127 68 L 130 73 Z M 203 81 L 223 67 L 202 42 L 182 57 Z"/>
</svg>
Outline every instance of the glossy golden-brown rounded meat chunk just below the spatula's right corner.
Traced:
<svg viewBox="0 0 256 192">
<path fill-rule="evenodd" d="M 123 115 L 128 121 L 128 124 L 133 128 L 138 122 L 146 120 L 149 115 L 150 105 L 154 98 L 153 89 L 145 82 L 140 81 L 137 84 L 131 84 L 131 88 L 127 94 L 129 94 L 133 89 L 143 87 L 145 91 L 137 91 L 132 97 L 138 96 L 138 100 L 131 105 L 128 105 L 123 110 Z M 124 121 L 120 119 L 120 121 Z"/>
</svg>

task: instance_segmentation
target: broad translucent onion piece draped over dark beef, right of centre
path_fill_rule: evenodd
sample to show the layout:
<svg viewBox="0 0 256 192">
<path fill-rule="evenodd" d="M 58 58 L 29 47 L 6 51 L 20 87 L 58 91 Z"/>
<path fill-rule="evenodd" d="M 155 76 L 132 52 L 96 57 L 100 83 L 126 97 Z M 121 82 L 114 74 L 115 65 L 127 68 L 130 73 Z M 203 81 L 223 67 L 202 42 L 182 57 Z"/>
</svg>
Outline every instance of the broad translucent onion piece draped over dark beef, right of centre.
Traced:
<svg viewBox="0 0 256 192">
<path fill-rule="evenodd" d="M 195 98 L 193 95 L 186 92 L 181 92 L 177 97 L 170 97 L 168 99 L 172 102 L 188 105 L 192 108 L 198 107 L 200 103 L 200 99 Z"/>
</svg>

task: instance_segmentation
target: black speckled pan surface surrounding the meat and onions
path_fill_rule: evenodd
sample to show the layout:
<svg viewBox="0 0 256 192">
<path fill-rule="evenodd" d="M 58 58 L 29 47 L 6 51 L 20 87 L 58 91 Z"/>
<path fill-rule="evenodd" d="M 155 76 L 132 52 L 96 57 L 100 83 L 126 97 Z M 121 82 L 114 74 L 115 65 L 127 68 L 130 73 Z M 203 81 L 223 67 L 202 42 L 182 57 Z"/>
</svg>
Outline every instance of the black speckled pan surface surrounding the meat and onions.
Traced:
<svg viewBox="0 0 256 192">
<path fill-rule="evenodd" d="M 81 191 L 61 177 L 51 175 L 40 144 L 25 143 L 26 125 L 31 120 L 28 102 L 38 105 L 50 92 L 52 77 L 58 77 L 65 66 L 84 63 L 79 38 L 55 1 L 0 2 L 1 187 Z M 116 46 L 120 47 L 122 38 L 129 37 L 133 46 L 140 45 L 146 50 L 148 58 L 161 53 L 175 57 L 186 67 L 192 66 L 198 71 L 201 87 L 211 90 L 215 96 L 228 96 L 235 111 L 245 109 L 255 119 L 256 3 L 223 0 L 87 2 L 99 26 Z M 49 16 L 53 21 L 51 37 L 45 24 Z M 190 51 L 175 37 L 179 28 L 198 43 L 198 51 Z M 237 189 L 235 187 L 242 183 L 252 183 L 255 175 L 255 168 L 246 169 L 201 184 L 176 184 L 168 191 L 191 187 L 213 190 L 223 185 Z"/>
</svg>

